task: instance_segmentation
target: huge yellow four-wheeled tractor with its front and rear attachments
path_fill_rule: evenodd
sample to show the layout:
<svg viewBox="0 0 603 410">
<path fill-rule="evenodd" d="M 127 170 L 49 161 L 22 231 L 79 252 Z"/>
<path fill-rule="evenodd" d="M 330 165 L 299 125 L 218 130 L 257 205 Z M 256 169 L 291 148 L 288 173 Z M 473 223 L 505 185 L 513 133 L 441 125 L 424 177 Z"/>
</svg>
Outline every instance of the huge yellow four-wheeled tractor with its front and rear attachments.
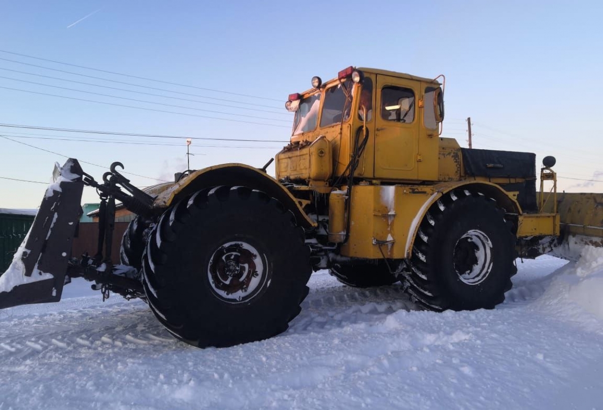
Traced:
<svg viewBox="0 0 603 410">
<path fill-rule="evenodd" d="M 432 311 L 492 309 L 511 289 L 518 256 L 575 257 L 580 244 L 601 245 L 603 195 L 557 194 L 553 157 L 537 192 L 535 154 L 440 136 L 437 79 L 349 67 L 312 78 L 285 106 L 295 116 L 276 178 L 270 162 L 230 163 L 143 192 L 121 163 L 102 182 L 77 160 L 57 167 L 0 276 L 0 307 L 58 301 L 63 284 L 83 276 L 104 297 L 143 298 L 178 339 L 224 347 L 286 330 L 312 270 L 350 286 L 401 282 Z M 74 259 L 84 185 L 100 193 L 101 232 L 94 256 Z M 118 266 L 115 201 L 137 215 Z"/>
</svg>

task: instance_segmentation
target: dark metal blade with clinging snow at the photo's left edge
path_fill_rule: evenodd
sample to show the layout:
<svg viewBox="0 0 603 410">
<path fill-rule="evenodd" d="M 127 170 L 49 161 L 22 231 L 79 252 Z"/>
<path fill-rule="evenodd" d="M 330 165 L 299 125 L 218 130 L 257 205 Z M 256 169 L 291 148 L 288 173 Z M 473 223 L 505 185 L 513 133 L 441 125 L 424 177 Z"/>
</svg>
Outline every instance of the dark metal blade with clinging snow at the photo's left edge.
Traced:
<svg viewBox="0 0 603 410">
<path fill-rule="evenodd" d="M 55 165 L 53 181 L 8 270 L 0 274 L 0 309 L 61 299 L 81 216 L 83 171 L 76 159 Z"/>
</svg>

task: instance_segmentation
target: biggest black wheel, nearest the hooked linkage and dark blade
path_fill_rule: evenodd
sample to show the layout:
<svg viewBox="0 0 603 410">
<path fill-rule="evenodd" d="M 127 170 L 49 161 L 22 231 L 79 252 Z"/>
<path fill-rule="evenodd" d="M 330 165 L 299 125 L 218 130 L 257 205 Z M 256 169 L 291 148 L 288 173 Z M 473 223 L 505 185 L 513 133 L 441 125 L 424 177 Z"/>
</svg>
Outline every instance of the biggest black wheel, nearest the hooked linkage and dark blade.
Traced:
<svg viewBox="0 0 603 410">
<path fill-rule="evenodd" d="M 169 332 L 198 347 L 270 338 L 308 295 L 304 242 L 294 215 L 263 192 L 199 191 L 151 231 L 142 281 L 149 305 Z"/>
</svg>

